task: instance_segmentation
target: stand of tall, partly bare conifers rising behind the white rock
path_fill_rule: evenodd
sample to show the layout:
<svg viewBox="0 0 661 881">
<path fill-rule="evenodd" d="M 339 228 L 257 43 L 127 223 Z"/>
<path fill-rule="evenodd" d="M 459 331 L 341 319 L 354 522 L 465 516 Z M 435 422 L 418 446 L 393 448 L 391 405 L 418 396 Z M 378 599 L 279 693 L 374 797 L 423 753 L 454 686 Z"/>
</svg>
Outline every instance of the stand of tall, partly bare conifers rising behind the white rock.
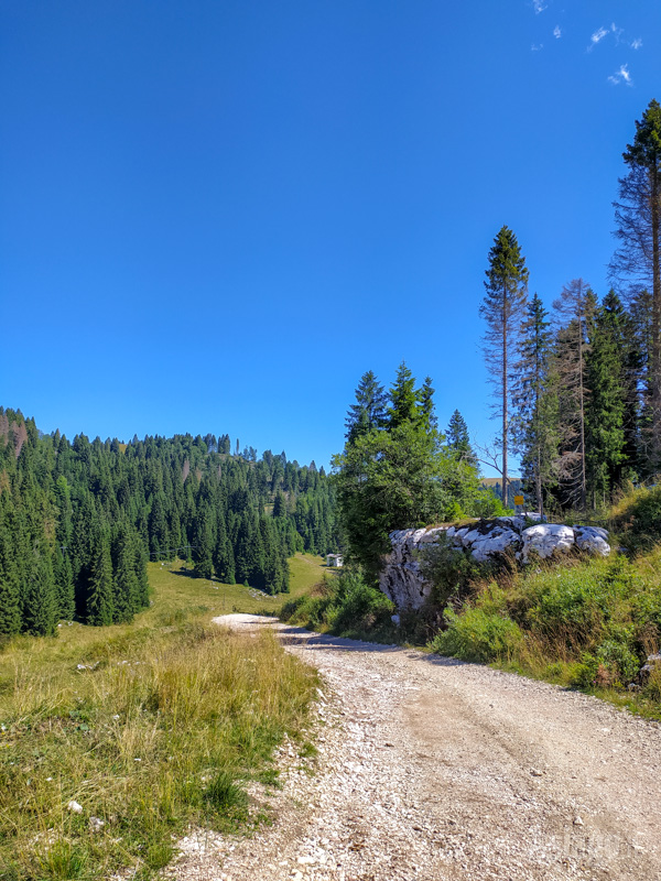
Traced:
<svg viewBox="0 0 661 881">
<path fill-rule="evenodd" d="M 626 481 L 661 472 L 661 106 L 650 101 L 622 154 L 614 204 L 613 287 L 599 298 L 582 278 L 549 312 L 517 237 L 494 240 L 480 314 L 484 351 L 501 420 L 505 502 L 508 452 L 540 511 L 587 508 Z"/>
</svg>

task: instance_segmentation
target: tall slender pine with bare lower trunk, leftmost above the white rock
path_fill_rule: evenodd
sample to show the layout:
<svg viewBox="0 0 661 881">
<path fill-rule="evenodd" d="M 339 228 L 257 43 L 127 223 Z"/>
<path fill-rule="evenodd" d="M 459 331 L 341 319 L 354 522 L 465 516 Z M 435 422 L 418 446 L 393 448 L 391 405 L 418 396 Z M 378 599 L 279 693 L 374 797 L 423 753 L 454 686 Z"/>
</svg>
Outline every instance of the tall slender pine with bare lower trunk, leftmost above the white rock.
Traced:
<svg viewBox="0 0 661 881">
<path fill-rule="evenodd" d="M 484 352 L 490 381 L 495 389 L 496 416 L 501 420 L 500 445 L 502 450 L 502 501 L 508 507 L 508 454 L 510 428 L 510 399 L 512 361 L 523 307 L 525 305 L 528 269 L 521 254 L 517 237 L 503 226 L 489 251 L 489 268 L 486 271 L 486 296 L 480 315 L 487 323 L 484 336 Z"/>
</svg>

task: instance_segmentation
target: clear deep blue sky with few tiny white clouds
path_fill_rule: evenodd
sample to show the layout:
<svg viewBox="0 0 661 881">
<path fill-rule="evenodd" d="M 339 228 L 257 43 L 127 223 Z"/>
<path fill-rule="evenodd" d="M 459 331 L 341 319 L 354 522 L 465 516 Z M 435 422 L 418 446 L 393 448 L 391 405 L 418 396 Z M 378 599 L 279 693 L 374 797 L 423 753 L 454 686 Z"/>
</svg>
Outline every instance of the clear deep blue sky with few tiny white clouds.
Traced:
<svg viewBox="0 0 661 881">
<path fill-rule="evenodd" d="M 327 464 L 368 369 L 496 429 L 487 253 L 607 290 L 658 0 L 0 0 L 0 404 Z"/>
</svg>

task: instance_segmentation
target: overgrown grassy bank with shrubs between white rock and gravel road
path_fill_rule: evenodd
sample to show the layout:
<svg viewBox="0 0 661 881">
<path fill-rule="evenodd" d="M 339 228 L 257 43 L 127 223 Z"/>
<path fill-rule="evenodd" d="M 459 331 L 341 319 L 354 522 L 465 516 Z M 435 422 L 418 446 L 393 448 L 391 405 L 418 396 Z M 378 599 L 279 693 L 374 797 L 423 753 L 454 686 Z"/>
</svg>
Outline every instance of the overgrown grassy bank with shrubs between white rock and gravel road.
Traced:
<svg viewBox="0 0 661 881">
<path fill-rule="evenodd" d="M 661 718 L 661 665 L 639 677 L 660 648 L 660 515 L 661 488 L 626 494 L 609 512 L 614 553 L 605 559 L 576 554 L 518 569 L 460 555 L 453 567 L 445 554 L 436 580 L 443 627 L 429 648 Z"/>
</svg>

